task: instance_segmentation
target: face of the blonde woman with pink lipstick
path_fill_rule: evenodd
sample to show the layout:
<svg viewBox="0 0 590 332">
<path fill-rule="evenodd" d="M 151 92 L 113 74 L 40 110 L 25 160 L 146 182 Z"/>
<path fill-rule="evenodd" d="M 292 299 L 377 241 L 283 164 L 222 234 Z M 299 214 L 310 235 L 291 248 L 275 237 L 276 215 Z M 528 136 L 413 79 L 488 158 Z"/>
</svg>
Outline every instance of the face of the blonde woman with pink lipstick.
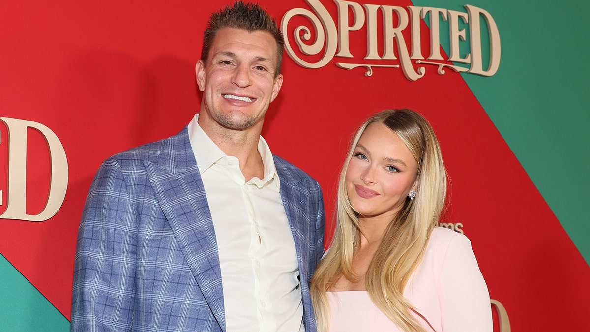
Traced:
<svg viewBox="0 0 590 332">
<path fill-rule="evenodd" d="M 415 190 L 418 162 L 404 141 L 382 123 L 369 125 L 348 162 L 345 182 L 353 209 L 360 219 L 385 219 L 401 210 Z"/>
</svg>

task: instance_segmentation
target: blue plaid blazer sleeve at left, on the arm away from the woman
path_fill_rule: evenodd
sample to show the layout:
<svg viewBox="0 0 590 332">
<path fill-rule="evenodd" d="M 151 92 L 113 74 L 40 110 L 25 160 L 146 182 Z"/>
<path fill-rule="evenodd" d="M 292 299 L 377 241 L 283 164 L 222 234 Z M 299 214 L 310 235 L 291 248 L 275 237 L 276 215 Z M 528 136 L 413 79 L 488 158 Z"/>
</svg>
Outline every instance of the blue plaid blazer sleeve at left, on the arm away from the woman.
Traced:
<svg viewBox="0 0 590 332">
<path fill-rule="evenodd" d="M 94 177 L 78 229 L 72 331 L 131 328 L 136 224 L 120 165 L 107 160 Z"/>
</svg>

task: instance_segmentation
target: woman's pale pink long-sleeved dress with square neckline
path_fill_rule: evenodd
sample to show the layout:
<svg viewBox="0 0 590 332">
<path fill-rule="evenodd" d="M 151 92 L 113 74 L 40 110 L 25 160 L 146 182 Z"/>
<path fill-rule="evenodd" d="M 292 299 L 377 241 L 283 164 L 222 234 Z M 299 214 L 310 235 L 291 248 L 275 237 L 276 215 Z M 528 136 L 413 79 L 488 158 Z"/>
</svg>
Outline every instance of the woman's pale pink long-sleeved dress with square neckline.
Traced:
<svg viewBox="0 0 590 332">
<path fill-rule="evenodd" d="M 490 295 L 466 236 L 435 227 L 424 259 L 404 289 L 426 331 L 491 332 Z M 400 331 L 368 292 L 328 292 L 330 331 Z"/>
</svg>

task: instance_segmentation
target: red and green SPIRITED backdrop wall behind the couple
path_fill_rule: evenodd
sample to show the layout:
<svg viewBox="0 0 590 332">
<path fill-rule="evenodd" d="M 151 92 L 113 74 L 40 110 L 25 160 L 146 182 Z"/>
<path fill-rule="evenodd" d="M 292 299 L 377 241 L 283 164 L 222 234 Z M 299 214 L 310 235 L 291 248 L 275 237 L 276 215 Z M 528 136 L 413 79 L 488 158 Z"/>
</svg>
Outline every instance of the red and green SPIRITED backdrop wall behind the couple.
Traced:
<svg viewBox="0 0 590 332">
<path fill-rule="evenodd" d="M 450 178 L 441 226 L 471 239 L 494 330 L 588 330 L 588 3 L 259 3 L 286 39 L 263 136 L 322 185 L 327 242 L 352 132 L 417 110 Z M 0 4 L 0 330 L 68 330 L 94 173 L 198 111 L 202 34 L 227 4 Z"/>
</svg>

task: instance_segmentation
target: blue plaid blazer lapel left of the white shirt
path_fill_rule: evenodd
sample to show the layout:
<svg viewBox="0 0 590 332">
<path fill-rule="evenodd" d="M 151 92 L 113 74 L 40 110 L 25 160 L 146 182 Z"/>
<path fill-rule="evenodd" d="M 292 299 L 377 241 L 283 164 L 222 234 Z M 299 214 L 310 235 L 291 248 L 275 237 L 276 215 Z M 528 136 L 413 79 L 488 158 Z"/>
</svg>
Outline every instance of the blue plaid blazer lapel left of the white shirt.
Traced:
<svg viewBox="0 0 590 332">
<path fill-rule="evenodd" d="M 188 143 L 186 129 L 175 137 L 181 138 L 181 144 L 171 144 L 171 149 L 178 150 L 179 146 L 184 148 L 182 151 L 173 151 L 171 155 L 172 158 L 174 155 L 181 155 L 181 161 L 175 165 L 169 160 L 169 155 L 166 155 L 163 157 L 167 158 L 166 162 L 155 164 L 145 161 L 146 170 L 186 262 L 219 326 L 225 331 L 221 268 L 211 211 L 201 175 Z M 192 158 L 187 157 L 188 155 Z M 188 168 L 185 168 L 186 160 L 189 161 L 188 164 L 192 164 Z M 168 167 L 162 167 L 162 164 L 166 163 L 168 165 L 164 166 Z"/>
</svg>

